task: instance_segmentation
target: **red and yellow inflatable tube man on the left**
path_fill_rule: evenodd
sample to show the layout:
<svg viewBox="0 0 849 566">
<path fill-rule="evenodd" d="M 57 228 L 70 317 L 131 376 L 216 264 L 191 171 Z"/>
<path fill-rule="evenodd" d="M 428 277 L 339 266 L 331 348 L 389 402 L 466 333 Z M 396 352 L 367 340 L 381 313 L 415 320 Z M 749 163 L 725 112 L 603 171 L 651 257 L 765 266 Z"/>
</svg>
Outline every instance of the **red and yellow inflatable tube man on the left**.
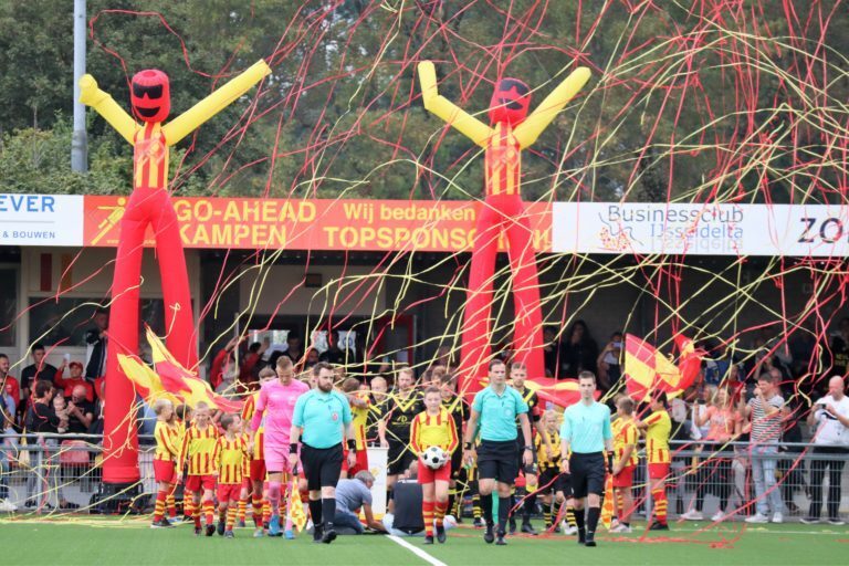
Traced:
<svg viewBox="0 0 849 566">
<path fill-rule="evenodd" d="M 118 365 L 118 354 L 138 352 L 138 294 L 145 230 L 154 229 L 163 280 L 168 349 L 185 367 L 197 366 L 197 334 L 180 227 L 168 195 L 168 148 L 218 114 L 271 73 L 259 61 L 198 104 L 172 119 L 168 75 L 140 71 L 132 82 L 129 116 L 91 75 L 80 80 L 80 102 L 92 106 L 133 146 L 133 193 L 120 220 L 118 252 L 112 283 L 109 346 L 106 355 L 103 479 L 132 483 L 139 479 L 138 438 L 133 405 L 135 394 Z"/>
</svg>

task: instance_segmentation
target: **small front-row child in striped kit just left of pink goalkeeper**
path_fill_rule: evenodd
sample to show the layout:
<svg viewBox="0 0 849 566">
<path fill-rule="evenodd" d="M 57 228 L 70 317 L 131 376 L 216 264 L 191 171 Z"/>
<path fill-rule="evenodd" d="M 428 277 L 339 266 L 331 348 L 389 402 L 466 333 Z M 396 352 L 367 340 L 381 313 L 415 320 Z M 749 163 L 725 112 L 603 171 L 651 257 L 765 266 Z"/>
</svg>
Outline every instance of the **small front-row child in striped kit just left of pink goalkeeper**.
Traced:
<svg viewBox="0 0 849 566">
<path fill-rule="evenodd" d="M 248 443 L 242 436 L 241 417 L 226 413 L 221 416 L 220 423 L 224 433 L 216 440 L 212 452 L 218 468 L 218 534 L 233 538 L 242 476 L 248 462 Z"/>
</svg>

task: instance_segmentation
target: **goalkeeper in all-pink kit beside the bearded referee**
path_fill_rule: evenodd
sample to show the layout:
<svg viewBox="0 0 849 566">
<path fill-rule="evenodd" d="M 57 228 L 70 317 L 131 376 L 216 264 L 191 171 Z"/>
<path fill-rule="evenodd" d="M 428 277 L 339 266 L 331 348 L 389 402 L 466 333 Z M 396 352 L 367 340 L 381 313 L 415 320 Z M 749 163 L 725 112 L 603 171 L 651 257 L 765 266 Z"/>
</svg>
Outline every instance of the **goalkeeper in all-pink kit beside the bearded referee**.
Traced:
<svg viewBox="0 0 849 566">
<path fill-rule="evenodd" d="M 269 536 L 281 536 L 280 530 L 280 497 L 282 484 L 289 467 L 289 439 L 292 430 L 292 415 L 297 398 L 310 390 L 306 384 L 295 379 L 292 360 L 285 356 L 277 359 L 277 379 L 262 385 L 256 400 L 256 409 L 251 419 L 251 441 L 264 420 L 265 437 L 263 451 L 265 468 L 269 471 L 269 503 L 271 504 L 271 521 Z M 289 535 L 287 535 L 289 536 Z"/>
</svg>

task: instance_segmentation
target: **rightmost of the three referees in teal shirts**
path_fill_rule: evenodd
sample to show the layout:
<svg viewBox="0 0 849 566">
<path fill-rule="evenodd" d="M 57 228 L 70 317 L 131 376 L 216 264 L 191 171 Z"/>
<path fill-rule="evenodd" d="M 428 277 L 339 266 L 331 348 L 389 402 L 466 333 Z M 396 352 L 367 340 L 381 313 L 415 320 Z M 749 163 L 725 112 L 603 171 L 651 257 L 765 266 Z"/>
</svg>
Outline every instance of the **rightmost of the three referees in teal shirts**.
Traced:
<svg viewBox="0 0 849 566">
<path fill-rule="evenodd" d="M 596 546 L 596 527 L 601 515 L 601 495 L 605 493 L 602 450 L 607 450 L 608 469 L 612 469 L 614 434 L 610 429 L 610 409 L 595 400 L 596 376 L 591 371 L 578 375 L 578 389 L 580 401 L 563 413 L 560 469 L 572 475 L 578 544 Z M 586 522 L 585 503 L 588 507 Z"/>
</svg>

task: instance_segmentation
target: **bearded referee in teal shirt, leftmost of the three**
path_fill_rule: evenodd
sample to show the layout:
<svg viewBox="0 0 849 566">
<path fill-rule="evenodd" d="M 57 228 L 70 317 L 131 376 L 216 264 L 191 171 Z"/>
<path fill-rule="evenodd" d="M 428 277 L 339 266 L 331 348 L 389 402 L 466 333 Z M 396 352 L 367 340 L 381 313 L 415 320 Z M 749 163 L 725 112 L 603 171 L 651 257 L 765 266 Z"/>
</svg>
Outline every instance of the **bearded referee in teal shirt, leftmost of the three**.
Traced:
<svg viewBox="0 0 849 566">
<path fill-rule="evenodd" d="M 318 363 L 313 366 L 313 377 L 316 388 L 295 402 L 289 463 L 292 469 L 297 465 L 300 442 L 301 463 L 310 491 L 310 515 L 315 525 L 313 542 L 331 544 L 336 538 L 333 520 L 336 516 L 336 484 L 345 458 L 342 443 L 347 438 L 348 467 L 353 468 L 357 462 L 357 441 L 350 426 L 350 405 L 333 388 L 333 368 L 329 364 Z"/>
</svg>

